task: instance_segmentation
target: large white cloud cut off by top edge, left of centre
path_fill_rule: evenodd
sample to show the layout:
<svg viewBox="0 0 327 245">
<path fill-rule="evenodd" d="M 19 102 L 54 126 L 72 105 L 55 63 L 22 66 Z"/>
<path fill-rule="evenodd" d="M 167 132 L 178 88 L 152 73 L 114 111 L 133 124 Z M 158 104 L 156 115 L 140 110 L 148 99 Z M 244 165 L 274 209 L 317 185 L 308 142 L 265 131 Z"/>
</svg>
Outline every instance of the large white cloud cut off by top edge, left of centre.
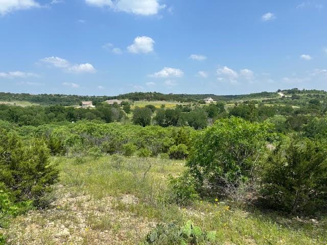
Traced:
<svg viewBox="0 0 327 245">
<path fill-rule="evenodd" d="M 166 5 L 160 5 L 158 0 L 85 0 L 88 5 L 110 7 L 115 11 L 123 11 L 135 15 L 155 15 Z"/>
</svg>

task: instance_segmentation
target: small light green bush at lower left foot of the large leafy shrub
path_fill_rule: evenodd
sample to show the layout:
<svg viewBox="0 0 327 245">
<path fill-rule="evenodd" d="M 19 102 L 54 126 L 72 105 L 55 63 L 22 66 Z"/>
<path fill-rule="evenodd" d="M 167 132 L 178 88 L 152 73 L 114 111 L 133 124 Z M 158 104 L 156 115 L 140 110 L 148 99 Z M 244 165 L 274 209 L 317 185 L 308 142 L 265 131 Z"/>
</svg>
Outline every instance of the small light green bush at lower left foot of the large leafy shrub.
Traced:
<svg viewBox="0 0 327 245">
<path fill-rule="evenodd" d="M 188 172 L 177 178 L 170 176 L 168 185 L 170 192 L 167 199 L 169 202 L 187 206 L 199 198 L 196 191 L 196 179 Z"/>
</svg>

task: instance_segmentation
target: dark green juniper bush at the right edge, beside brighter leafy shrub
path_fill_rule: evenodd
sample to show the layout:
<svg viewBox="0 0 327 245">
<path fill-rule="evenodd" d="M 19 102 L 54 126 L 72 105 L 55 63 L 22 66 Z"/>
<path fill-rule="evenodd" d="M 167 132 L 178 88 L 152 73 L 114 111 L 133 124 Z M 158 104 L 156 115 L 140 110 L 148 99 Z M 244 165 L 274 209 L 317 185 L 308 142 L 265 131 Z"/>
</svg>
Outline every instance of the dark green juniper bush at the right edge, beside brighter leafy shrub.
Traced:
<svg viewBox="0 0 327 245">
<path fill-rule="evenodd" d="M 326 146 L 311 140 L 279 145 L 268 158 L 262 182 L 268 207 L 307 213 L 326 208 Z"/>
</svg>

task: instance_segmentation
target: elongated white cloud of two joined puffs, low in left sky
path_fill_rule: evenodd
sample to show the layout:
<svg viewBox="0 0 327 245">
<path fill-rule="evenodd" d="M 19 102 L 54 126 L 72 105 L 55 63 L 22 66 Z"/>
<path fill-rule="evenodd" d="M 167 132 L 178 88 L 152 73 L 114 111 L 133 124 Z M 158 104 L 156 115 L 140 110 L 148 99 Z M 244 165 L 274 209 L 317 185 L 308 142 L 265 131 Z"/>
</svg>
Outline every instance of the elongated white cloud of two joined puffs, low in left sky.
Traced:
<svg viewBox="0 0 327 245">
<path fill-rule="evenodd" d="M 95 73 L 96 69 L 90 63 L 71 64 L 69 61 L 59 57 L 46 57 L 40 60 L 41 63 L 48 64 L 51 67 L 61 68 L 67 72 L 73 73 Z"/>
</svg>

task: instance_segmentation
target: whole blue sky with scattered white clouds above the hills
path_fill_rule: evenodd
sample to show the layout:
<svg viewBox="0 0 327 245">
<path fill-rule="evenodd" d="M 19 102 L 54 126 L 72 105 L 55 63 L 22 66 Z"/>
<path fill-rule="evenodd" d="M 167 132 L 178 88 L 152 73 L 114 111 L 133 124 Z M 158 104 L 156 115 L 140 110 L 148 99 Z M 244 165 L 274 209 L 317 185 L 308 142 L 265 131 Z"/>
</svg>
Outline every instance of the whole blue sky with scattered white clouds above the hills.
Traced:
<svg viewBox="0 0 327 245">
<path fill-rule="evenodd" d="M 0 91 L 327 90 L 324 0 L 0 0 Z"/>
</svg>

